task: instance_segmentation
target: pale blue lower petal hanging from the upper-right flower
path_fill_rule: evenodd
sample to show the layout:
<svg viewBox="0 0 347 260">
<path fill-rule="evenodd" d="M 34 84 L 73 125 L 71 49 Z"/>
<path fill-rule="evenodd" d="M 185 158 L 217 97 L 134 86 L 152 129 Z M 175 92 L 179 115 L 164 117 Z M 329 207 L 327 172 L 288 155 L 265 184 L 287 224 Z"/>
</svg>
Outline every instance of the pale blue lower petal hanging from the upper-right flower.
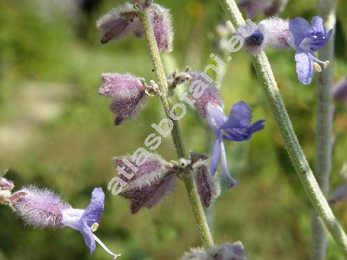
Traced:
<svg viewBox="0 0 347 260">
<path fill-rule="evenodd" d="M 309 85 L 314 76 L 314 55 L 303 51 L 302 49 L 297 49 L 295 54 L 296 60 L 296 73 L 298 73 L 298 79 L 301 83 Z"/>
</svg>

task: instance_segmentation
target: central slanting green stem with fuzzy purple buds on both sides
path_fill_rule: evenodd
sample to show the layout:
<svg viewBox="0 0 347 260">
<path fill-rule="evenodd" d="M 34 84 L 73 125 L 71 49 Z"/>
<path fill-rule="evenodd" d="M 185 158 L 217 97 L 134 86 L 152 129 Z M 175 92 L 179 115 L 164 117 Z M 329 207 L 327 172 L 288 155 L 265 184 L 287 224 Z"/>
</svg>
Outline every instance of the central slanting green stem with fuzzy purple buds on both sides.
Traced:
<svg viewBox="0 0 347 260">
<path fill-rule="evenodd" d="M 164 66 L 162 64 L 162 59 L 160 58 L 160 52 L 158 49 L 157 42 L 155 40 L 153 28 L 151 26 L 149 11 L 147 9 L 140 10 L 139 18 L 144 28 L 144 35 L 146 37 L 146 41 L 149 46 L 149 51 L 151 53 L 151 60 L 154 66 L 155 76 L 157 77 L 158 85 L 160 87 L 160 99 L 162 101 L 162 105 L 164 106 L 165 114 L 169 119 L 172 101 L 171 98 L 169 98 L 168 96 L 169 89 L 167 86 L 167 78 L 165 76 Z M 182 135 L 180 134 L 180 127 L 178 125 L 178 121 L 173 120 L 173 122 L 174 128 L 171 132 L 171 135 L 172 139 L 174 140 L 174 146 L 176 148 L 178 158 L 185 158 L 187 157 L 187 153 L 185 152 Z M 192 206 L 194 217 L 198 225 L 198 232 L 200 234 L 201 241 L 203 242 L 203 246 L 205 248 L 210 248 L 212 245 L 214 245 L 214 243 L 212 240 L 210 229 L 208 227 L 208 222 L 203 212 L 203 206 L 201 204 L 200 197 L 198 196 L 198 190 L 196 189 L 194 179 L 191 174 L 187 173 L 183 174 L 183 181 L 185 182 L 185 188 L 187 189 L 189 202 Z"/>
</svg>

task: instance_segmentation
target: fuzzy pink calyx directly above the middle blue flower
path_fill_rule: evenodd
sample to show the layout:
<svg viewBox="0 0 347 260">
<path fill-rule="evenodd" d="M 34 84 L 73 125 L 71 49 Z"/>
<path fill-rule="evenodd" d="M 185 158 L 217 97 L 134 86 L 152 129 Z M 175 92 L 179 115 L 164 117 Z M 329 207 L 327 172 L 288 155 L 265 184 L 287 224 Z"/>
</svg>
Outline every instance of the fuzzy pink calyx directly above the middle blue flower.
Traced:
<svg viewBox="0 0 347 260">
<path fill-rule="evenodd" d="M 189 82 L 191 85 L 189 93 L 195 101 L 194 107 L 200 112 L 201 116 L 206 117 L 208 105 L 223 107 L 221 94 L 214 84 L 210 83 L 207 74 L 192 72 L 190 76 Z M 194 91 L 190 91 L 190 89 L 194 89 Z"/>
</svg>

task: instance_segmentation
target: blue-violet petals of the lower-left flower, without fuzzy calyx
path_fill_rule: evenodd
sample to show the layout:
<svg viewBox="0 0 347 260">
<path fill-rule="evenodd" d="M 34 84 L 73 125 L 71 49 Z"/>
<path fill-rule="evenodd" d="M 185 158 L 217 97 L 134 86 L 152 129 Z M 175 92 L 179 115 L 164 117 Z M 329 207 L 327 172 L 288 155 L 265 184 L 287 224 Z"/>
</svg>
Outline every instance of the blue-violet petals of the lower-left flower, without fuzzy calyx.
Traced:
<svg viewBox="0 0 347 260">
<path fill-rule="evenodd" d="M 64 209 L 62 210 L 62 224 L 78 230 L 83 234 L 85 244 L 90 248 L 90 254 L 95 249 L 95 236 L 92 232 L 92 226 L 99 224 L 103 213 L 105 194 L 103 189 L 95 188 L 92 192 L 92 200 L 87 209 Z M 96 225 L 97 225 L 96 224 Z"/>
</svg>

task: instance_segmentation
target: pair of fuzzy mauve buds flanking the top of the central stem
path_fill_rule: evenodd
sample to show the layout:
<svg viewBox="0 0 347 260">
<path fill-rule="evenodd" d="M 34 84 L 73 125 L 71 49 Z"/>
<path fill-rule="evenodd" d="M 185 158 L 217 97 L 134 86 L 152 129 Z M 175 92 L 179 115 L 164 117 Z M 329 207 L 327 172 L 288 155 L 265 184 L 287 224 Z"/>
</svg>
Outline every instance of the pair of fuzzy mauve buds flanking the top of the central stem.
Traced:
<svg viewBox="0 0 347 260">
<path fill-rule="evenodd" d="M 151 25 L 158 49 L 160 51 L 172 51 L 174 31 L 169 10 L 156 3 L 150 3 L 149 6 L 146 4 L 141 8 L 149 8 Z M 119 40 L 131 34 L 143 37 L 144 30 L 139 20 L 138 11 L 133 4 L 125 3 L 123 6 L 114 8 L 106 15 L 103 15 L 96 22 L 96 26 L 104 33 L 101 43 L 106 44 L 110 40 Z"/>
</svg>

